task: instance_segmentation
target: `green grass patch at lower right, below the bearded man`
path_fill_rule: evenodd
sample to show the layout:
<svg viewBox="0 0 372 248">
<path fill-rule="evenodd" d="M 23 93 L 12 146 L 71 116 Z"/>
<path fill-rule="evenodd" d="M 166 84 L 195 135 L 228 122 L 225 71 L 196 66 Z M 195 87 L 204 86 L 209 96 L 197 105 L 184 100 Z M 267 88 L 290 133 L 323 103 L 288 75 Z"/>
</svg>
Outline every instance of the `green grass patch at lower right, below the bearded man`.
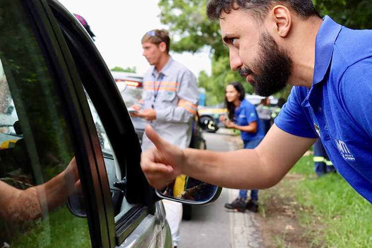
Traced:
<svg viewBox="0 0 372 248">
<path fill-rule="evenodd" d="M 293 185 L 297 203 L 304 211 L 300 221 L 311 227 L 319 223 L 314 244 L 336 248 L 372 247 L 372 205 L 339 174 L 314 175 L 312 155 L 304 156 L 289 173 L 304 177 Z M 319 241 L 321 241 L 319 243 Z"/>
</svg>

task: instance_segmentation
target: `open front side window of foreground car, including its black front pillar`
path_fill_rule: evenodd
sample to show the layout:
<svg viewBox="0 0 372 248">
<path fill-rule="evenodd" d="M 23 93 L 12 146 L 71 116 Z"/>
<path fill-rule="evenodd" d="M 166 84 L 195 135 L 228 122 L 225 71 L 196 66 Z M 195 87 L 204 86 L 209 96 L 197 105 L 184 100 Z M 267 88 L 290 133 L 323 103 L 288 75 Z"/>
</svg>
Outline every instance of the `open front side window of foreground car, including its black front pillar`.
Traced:
<svg viewBox="0 0 372 248">
<path fill-rule="evenodd" d="M 108 191 L 112 198 L 112 204 L 106 205 L 107 220 L 115 225 L 109 228 L 110 232 L 115 232 L 117 245 L 120 245 L 150 211 L 155 212 L 151 188 L 139 165 L 140 144 L 114 78 L 96 56 L 99 55 L 96 47 L 91 40 L 81 37 L 82 33 L 71 23 L 75 20 L 61 14 L 57 8 L 52 6 L 52 11 L 76 65 L 81 80 L 76 83 L 85 88 L 96 124 L 108 177 L 108 185 L 101 186 L 104 197 Z"/>
</svg>

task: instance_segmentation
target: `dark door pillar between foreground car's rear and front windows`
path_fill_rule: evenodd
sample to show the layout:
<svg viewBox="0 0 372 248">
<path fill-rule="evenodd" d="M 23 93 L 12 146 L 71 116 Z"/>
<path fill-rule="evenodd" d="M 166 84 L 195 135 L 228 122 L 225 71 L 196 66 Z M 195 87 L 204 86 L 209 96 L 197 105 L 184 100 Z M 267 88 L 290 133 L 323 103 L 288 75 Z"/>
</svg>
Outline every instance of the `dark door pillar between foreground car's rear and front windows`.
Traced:
<svg viewBox="0 0 372 248">
<path fill-rule="evenodd" d="M 68 126 L 71 142 L 75 152 L 78 165 L 84 199 L 86 200 L 87 221 L 90 232 L 90 239 L 93 247 L 112 247 L 113 240 L 110 240 L 108 233 L 108 218 L 105 204 L 108 203 L 103 196 L 104 187 L 102 183 L 107 181 L 106 171 L 102 172 L 103 164 L 100 149 L 94 143 L 97 139 L 95 128 L 87 125 L 92 122 L 91 115 L 86 115 L 84 102 L 76 91 L 75 81 L 79 80 L 76 69 L 73 67 L 71 58 L 68 57 L 68 50 L 63 49 L 61 35 L 54 16 L 49 9 L 48 3 L 42 1 L 23 1 L 25 15 L 30 20 L 38 45 L 43 53 L 48 69 L 56 83 L 56 90 L 59 92 L 61 105 L 66 110 L 64 113 Z M 72 61 L 73 62 L 73 61 Z M 85 106 L 85 109 L 89 107 Z M 102 161 L 100 160 L 102 158 Z M 103 168 L 104 169 L 104 168 Z M 92 182 L 100 182 L 93 184 Z M 111 200 L 111 199 L 110 199 Z M 111 245 L 112 244 L 112 245 Z"/>
</svg>

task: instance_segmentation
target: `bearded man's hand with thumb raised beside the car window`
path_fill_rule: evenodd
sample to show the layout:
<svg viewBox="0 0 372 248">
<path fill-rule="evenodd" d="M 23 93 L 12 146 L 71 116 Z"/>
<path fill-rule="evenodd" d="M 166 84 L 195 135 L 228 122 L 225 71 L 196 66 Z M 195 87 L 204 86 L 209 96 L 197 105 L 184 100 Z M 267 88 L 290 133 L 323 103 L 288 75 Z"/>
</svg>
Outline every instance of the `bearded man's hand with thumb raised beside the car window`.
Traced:
<svg viewBox="0 0 372 248">
<path fill-rule="evenodd" d="M 181 174 L 185 154 L 177 146 L 162 139 L 149 124 L 145 131 L 155 147 L 142 152 L 141 168 L 150 185 L 162 189 Z"/>
</svg>

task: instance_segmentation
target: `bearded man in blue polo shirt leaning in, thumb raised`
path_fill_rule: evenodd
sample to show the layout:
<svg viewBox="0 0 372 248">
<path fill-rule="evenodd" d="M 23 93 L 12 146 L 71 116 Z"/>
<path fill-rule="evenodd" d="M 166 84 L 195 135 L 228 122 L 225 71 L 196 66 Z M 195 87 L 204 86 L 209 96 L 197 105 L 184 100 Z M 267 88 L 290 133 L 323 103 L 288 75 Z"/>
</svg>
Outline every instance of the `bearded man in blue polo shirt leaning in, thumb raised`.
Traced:
<svg viewBox="0 0 372 248">
<path fill-rule="evenodd" d="M 257 94 L 294 87 L 254 149 L 176 149 L 147 127 L 157 147 L 141 159 L 150 184 L 161 188 L 187 174 L 224 187 L 267 188 L 318 138 L 340 175 L 372 202 L 372 30 L 321 18 L 311 0 L 209 0 L 207 15 L 219 20 L 232 70 Z"/>
</svg>

